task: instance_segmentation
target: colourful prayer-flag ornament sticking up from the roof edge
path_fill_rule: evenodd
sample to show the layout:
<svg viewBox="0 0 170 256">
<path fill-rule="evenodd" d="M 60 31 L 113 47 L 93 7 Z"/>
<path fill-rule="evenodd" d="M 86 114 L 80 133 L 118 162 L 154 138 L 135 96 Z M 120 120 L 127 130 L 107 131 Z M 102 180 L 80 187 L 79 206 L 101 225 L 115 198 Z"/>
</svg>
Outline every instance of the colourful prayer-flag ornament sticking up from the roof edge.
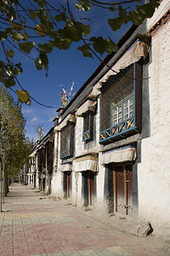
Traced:
<svg viewBox="0 0 170 256">
<path fill-rule="evenodd" d="M 66 107 L 66 105 L 71 101 L 71 97 L 74 96 L 74 94 L 71 95 L 74 87 L 74 82 L 72 82 L 70 90 L 65 90 L 64 84 L 62 83 L 61 85 L 59 85 L 59 87 L 61 87 L 61 90 L 59 91 L 59 96 L 60 96 L 59 106 Z"/>
</svg>

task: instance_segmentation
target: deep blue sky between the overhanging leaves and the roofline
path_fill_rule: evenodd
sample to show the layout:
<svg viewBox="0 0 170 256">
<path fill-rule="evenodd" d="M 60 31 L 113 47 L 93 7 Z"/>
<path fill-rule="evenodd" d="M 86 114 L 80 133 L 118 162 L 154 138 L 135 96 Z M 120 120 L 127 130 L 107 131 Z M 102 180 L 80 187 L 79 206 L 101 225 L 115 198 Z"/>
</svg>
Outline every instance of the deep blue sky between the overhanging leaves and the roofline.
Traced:
<svg viewBox="0 0 170 256">
<path fill-rule="evenodd" d="M 107 14 L 104 15 L 98 9 L 90 11 L 89 15 L 94 19 L 91 26 L 93 35 L 103 36 L 104 38 L 110 36 L 115 42 L 122 37 L 130 26 L 129 24 L 123 26 L 120 31 L 114 33 L 107 25 Z M 82 43 L 79 45 L 82 45 Z M 35 55 L 36 52 L 32 51 L 31 56 L 36 57 Z M 18 59 L 22 63 L 24 69 L 24 73 L 18 77 L 20 84 L 38 102 L 54 107 L 44 108 L 33 101 L 31 102 L 31 106 L 22 105 L 22 112 L 26 118 L 26 136 L 35 140 L 38 139 L 35 128 L 37 125 L 43 126 L 45 134 L 54 125 L 53 119 L 57 116 L 56 110 L 59 108 L 60 102 L 59 85 L 64 84 L 64 88 L 69 90 L 74 81 L 73 93 L 76 93 L 88 77 L 94 73 L 96 67 L 99 66 L 99 60 L 96 57 L 94 59 L 83 57 L 82 52 L 77 49 L 77 44 L 72 44 L 68 50 L 54 49 L 48 57 L 49 71 L 48 77 L 46 77 L 44 71 L 37 71 L 31 59 L 26 58 L 25 55 L 21 55 L 20 53 L 15 56 L 15 59 Z M 104 55 L 102 58 L 104 58 Z M 18 85 L 14 87 L 14 90 L 17 89 L 20 89 Z M 16 96 L 11 90 L 10 93 L 16 99 Z"/>
</svg>

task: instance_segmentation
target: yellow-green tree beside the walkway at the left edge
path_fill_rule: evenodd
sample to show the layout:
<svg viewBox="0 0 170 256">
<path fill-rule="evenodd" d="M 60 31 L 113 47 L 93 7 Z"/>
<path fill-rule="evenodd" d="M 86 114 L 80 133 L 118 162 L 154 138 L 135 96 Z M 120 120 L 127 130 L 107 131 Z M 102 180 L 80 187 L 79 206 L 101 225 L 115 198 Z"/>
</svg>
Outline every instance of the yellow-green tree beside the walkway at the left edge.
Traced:
<svg viewBox="0 0 170 256">
<path fill-rule="evenodd" d="M 26 138 L 26 119 L 20 102 L 14 102 L 3 85 L 0 87 L 0 160 L 3 164 L 4 193 L 8 193 L 8 177 L 20 172 L 28 160 L 33 144 Z"/>
</svg>

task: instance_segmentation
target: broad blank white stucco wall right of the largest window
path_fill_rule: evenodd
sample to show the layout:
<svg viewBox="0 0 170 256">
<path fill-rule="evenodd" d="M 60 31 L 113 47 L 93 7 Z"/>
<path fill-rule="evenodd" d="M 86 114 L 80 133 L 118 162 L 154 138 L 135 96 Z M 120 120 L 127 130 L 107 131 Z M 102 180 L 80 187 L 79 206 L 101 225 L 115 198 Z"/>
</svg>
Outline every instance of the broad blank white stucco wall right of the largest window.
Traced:
<svg viewBox="0 0 170 256">
<path fill-rule="evenodd" d="M 170 227 L 170 22 L 153 34 L 148 66 L 150 137 L 142 139 L 138 164 L 139 218 L 158 232 Z M 144 113 L 143 113 L 144 114 Z"/>
</svg>

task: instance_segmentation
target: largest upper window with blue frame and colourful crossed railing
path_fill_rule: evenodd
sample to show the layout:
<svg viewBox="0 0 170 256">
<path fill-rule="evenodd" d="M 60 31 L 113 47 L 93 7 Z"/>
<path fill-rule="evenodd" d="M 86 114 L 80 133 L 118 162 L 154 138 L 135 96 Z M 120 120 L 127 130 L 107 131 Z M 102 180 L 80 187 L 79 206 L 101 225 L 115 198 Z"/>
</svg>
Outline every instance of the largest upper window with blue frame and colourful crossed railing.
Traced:
<svg viewBox="0 0 170 256">
<path fill-rule="evenodd" d="M 141 131 L 142 63 L 132 64 L 103 83 L 99 143 Z"/>
</svg>

